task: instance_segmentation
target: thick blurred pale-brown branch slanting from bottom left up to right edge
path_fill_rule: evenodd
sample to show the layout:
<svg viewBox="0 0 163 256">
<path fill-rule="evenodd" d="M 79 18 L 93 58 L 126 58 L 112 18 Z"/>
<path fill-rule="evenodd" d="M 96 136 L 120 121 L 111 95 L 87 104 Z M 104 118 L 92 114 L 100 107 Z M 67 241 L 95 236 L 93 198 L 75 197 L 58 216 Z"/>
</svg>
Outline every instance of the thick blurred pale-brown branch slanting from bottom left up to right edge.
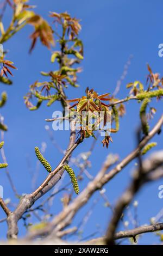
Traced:
<svg viewBox="0 0 163 256">
<path fill-rule="evenodd" d="M 109 173 L 106 173 L 106 170 L 109 168 L 110 163 L 105 162 L 102 169 L 98 172 L 95 179 L 93 179 L 87 187 L 82 191 L 82 193 L 79 194 L 79 196 L 73 200 L 73 202 L 68 205 L 58 216 L 54 218 L 54 220 L 45 227 L 45 229 L 39 230 L 36 233 L 33 233 L 30 237 L 34 237 L 40 234 L 58 232 L 67 225 L 69 225 L 73 217 L 77 214 L 78 210 L 82 208 L 83 205 L 87 203 L 87 201 L 90 199 L 92 194 L 101 189 L 109 180 L 114 178 L 114 176 L 119 173 L 124 167 L 127 166 L 128 163 L 130 163 L 135 157 L 137 157 L 140 154 L 140 150 L 148 143 L 148 141 L 160 131 L 160 128 L 163 124 L 163 115 L 158 120 L 158 122 L 155 124 L 153 129 L 148 133 L 146 137 L 142 139 L 142 141 L 139 143 L 138 147 L 132 151 L 129 155 L 127 155 L 120 163 L 117 164 L 117 166 L 110 170 Z"/>
</svg>

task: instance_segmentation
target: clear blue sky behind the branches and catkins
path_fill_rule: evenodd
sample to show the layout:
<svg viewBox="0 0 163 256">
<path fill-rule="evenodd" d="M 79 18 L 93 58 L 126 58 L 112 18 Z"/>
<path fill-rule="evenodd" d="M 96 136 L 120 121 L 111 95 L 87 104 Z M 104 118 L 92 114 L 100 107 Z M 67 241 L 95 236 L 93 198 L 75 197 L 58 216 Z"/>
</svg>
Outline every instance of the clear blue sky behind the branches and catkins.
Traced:
<svg viewBox="0 0 163 256">
<path fill-rule="evenodd" d="M 163 58 L 158 56 L 158 45 L 163 42 L 163 28 L 161 26 L 163 3 L 161 0 L 47 0 L 46 2 L 34 0 L 32 4 L 37 5 L 36 13 L 50 22 L 49 11 L 57 13 L 67 11 L 72 16 L 81 19 L 80 39 L 84 42 L 83 72 L 79 75 L 80 87 L 77 89 L 68 88 L 66 91 L 70 99 L 84 95 L 87 86 L 94 88 L 99 94 L 113 93 L 130 54 L 133 55 L 133 59 L 129 66 L 128 75 L 122 82 L 121 90 L 117 95 L 120 99 L 127 95 L 126 84 L 128 82 L 140 80 L 145 84 L 147 63 L 151 65 L 154 72 L 163 75 Z M 4 19 L 5 27 L 9 19 L 10 11 L 7 10 Z M 37 43 L 33 53 L 28 54 L 30 47 L 29 35 L 32 31 L 32 27 L 26 27 L 4 44 L 4 48 L 9 49 L 7 59 L 12 60 L 18 70 L 14 71 L 13 86 L 7 87 L 1 84 L 1 91 L 6 90 L 9 96 L 7 105 L 1 109 L 5 123 L 9 126 L 9 131 L 5 133 L 5 155 L 9 163 L 10 175 L 20 194 L 32 191 L 27 156 L 30 159 L 32 172 L 35 172 L 34 148 L 36 145 L 41 147 L 42 142 L 47 143 L 45 156 L 49 162 L 53 163 L 53 166 L 56 166 L 62 157 L 50 141 L 45 130 L 45 118 L 51 118 L 53 111 L 60 109 L 59 103 L 55 103 L 49 108 L 42 105 L 38 111 L 30 112 L 23 102 L 23 96 L 28 92 L 29 85 L 36 80 L 43 81 L 40 71 L 54 69 L 50 62 L 51 52 L 43 47 L 40 42 Z M 154 100 L 152 106 L 156 106 L 157 113 L 151 122 L 151 127 L 162 113 L 162 102 L 155 104 Z M 120 155 L 120 159 L 123 159 L 134 149 L 136 144 L 135 130 L 139 125 L 139 107 L 139 104 L 133 101 L 126 104 L 127 114 L 121 119 L 120 131 L 112 136 L 114 143 L 109 145 L 108 150 L 102 148 L 100 141 L 97 142 L 91 156 L 92 168 L 89 169 L 92 175 L 96 175 L 109 153 L 117 153 Z M 52 129 L 51 125 L 50 128 Z M 53 136 L 61 148 L 65 149 L 68 143 L 68 131 L 53 131 Z M 157 149 L 162 149 L 162 134 L 159 137 L 155 136 L 153 141 L 159 142 Z M 87 139 L 74 152 L 73 156 L 87 151 L 91 142 L 92 138 Z M 130 163 L 105 186 L 106 195 L 112 204 L 116 202 L 130 180 L 133 167 L 134 162 Z M 46 173 L 41 167 L 37 183 L 43 181 L 45 176 Z M 66 184 L 66 181 L 68 181 L 67 177 L 63 182 Z M 85 178 L 81 190 L 87 182 L 88 180 Z M 17 203 L 18 200 L 14 198 L 3 170 L 0 174 L 0 184 L 4 187 L 4 198 L 11 198 L 12 202 Z M 158 186 L 161 184 L 163 184 L 163 180 L 149 184 L 137 194 L 135 199 L 139 200 L 138 216 L 140 224 L 148 223 L 149 218 L 155 216 L 161 209 L 162 200 L 158 198 Z M 55 198 L 54 205 L 51 208 L 52 214 L 57 214 L 61 210 L 60 197 L 63 194 Z M 44 196 L 43 199 L 46 197 Z M 91 198 L 90 203 L 79 211 L 73 225 L 78 223 L 78 220 L 90 209 L 93 200 L 97 197 L 98 192 Z M 98 233 L 96 236 L 104 234 L 106 223 L 109 221 L 110 210 L 104 208 L 103 205 L 103 199 L 99 199 L 89 222 L 86 224 L 83 237 L 97 231 L 98 226 L 101 227 L 102 233 Z M 3 217 L 4 214 L 0 210 L 0 219 Z M 128 220 L 128 217 L 125 220 Z M 25 234 L 26 231 L 22 224 L 22 221 L 20 221 L 20 236 Z M 7 224 L 2 223 L 0 225 L 0 237 L 5 239 Z M 123 227 L 120 226 L 119 228 L 122 229 Z M 158 241 L 158 237 L 153 234 L 146 234 L 142 237 L 140 243 L 150 244 L 156 241 Z"/>
</svg>

